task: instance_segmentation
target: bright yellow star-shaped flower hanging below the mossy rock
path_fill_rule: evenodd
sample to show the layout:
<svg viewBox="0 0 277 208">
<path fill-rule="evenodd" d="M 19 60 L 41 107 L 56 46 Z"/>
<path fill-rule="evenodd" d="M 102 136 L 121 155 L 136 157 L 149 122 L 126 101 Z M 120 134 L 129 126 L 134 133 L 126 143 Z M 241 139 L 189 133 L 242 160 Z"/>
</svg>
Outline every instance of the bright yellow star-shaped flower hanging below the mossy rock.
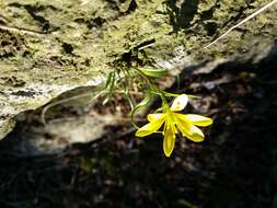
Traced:
<svg viewBox="0 0 277 208">
<path fill-rule="evenodd" d="M 188 96 L 182 94 L 177 96 L 171 106 L 164 105 L 164 113 L 149 114 L 147 116 L 149 124 L 139 128 L 136 132 L 137 137 L 146 137 L 158 131 L 163 126 L 163 151 L 170 157 L 175 145 L 177 129 L 186 137 L 195 142 L 203 141 L 205 136 L 196 126 L 209 126 L 212 119 L 195 114 L 181 114 L 188 102 Z"/>
</svg>

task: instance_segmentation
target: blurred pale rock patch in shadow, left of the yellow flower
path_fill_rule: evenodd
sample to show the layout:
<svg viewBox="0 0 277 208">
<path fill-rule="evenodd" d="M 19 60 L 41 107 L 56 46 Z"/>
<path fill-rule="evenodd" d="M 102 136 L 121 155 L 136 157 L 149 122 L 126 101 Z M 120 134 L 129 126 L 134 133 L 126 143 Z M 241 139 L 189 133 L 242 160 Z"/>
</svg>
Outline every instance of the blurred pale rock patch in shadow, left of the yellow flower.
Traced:
<svg viewBox="0 0 277 208">
<path fill-rule="evenodd" d="M 27 125 L 24 120 L 24 130 L 11 134 L 13 140 L 9 149 L 18 157 L 37 157 L 60 153 L 73 143 L 85 143 L 99 139 L 107 134 L 107 126 L 118 125 L 113 115 L 100 115 L 93 109 L 86 114 L 71 118 L 57 119 L 46 126 L 34 125 L 34 119 Z M 21 122 L 19 122 L 21 124 Z"/>
</svg>

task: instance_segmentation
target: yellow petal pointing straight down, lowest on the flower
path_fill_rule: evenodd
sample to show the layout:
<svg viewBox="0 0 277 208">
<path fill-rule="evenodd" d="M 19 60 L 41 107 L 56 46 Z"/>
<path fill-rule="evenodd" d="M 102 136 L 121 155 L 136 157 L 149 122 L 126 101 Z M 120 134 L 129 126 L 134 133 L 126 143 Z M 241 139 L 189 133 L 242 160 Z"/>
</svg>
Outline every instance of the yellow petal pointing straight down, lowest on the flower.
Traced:
<svg viewBox="0 0 277 208">
<path fill-rule="evenodd" d="M 174 149 L 175 137 L 175 128 L 173 126 L 165 129 L 163 138 L 163 151 L 166 157 L 170 157 Z"/>
</svg>

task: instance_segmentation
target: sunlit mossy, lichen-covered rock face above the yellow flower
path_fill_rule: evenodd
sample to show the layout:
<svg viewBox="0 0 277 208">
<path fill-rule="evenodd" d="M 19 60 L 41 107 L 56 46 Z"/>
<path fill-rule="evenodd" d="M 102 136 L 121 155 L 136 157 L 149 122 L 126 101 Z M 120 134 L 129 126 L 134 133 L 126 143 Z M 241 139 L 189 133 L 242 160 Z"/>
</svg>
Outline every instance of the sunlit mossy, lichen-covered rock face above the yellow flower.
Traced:
<svg viewBox="0 0 277 208">
<path fill-rule="evenodd" d="M 203 46 L 264 3 L 0 0 L 0 138 L 18 114 L 100 85 L 122 67 L 183 70 L 209 60 L 258 60 L 277 37 L 276 7 L 207 50 Z"/>
</svg>

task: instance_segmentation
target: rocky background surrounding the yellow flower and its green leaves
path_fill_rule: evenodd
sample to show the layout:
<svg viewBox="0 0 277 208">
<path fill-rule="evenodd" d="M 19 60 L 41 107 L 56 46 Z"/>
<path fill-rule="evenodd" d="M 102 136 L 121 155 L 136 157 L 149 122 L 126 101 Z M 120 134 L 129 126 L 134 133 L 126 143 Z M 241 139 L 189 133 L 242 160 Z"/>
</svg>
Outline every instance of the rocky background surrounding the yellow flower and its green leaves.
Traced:
<svg viewBox="0 0 277 208">
<path fill-rule="evenodd" d="M 204 49 L 266 2 L 0 0 L 0 207 L 277 207 L 277 5 Z M 89 102 L 128 66 L 180 74 L 206 141 L 166 159 L 124 97 Z"/>
</svg>

